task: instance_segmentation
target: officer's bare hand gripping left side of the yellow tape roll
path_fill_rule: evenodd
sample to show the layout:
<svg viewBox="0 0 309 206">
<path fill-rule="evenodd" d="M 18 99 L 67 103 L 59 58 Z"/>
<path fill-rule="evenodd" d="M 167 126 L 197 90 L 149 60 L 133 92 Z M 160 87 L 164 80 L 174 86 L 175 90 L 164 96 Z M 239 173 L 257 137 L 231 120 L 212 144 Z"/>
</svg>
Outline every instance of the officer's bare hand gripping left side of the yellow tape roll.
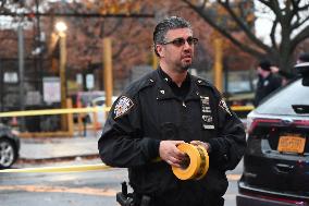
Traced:
<svg viewBox="0 0 309 206">
<path fill-rule="evenodd" d="M 181 167 L 182 161 L 186 159 L 186 154 L 177 148 L 177 145 L 184 141 L 161 141 L 159 155 L 162 160 L 174 167 Z"/>
</svg>

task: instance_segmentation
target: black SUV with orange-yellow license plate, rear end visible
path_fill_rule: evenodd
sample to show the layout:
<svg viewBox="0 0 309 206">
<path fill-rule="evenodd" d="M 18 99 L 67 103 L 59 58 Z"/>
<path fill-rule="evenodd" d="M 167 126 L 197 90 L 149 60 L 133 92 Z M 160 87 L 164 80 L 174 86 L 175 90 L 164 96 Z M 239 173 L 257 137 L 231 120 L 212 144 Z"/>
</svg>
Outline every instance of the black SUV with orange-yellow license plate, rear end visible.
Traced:
<svg viewBox="0 0 309 206">
<path fill-rule="evenodd" d="M 309 63 L 247 118 L 237 206 L 309 206 Z"/>
</svg>

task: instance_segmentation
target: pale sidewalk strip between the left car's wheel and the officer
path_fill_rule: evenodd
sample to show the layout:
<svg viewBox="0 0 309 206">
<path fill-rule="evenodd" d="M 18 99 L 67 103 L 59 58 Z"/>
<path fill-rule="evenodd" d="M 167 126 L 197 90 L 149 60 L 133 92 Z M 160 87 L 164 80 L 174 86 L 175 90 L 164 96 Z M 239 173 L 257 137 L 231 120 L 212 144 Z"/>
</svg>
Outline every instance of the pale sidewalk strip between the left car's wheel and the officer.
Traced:
<svg viewBox="0 0 309 206">
<path fill-rule="evenodd" d="M 74 137 L 21 138 L 20 160 L 52 160 L 98 156 L 101 131 Z"/>
</svg>

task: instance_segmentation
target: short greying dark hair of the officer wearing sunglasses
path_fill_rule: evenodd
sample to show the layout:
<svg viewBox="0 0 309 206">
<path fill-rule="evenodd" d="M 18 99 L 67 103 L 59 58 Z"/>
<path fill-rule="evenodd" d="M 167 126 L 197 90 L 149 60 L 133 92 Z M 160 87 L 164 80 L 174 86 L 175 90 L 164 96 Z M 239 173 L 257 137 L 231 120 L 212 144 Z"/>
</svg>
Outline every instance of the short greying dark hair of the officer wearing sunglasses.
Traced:
<svg viewBox="0 0 309 206">
<path fill-rule="evenodd" d="M 156 49 L 156 45 L 164 43 L 166 33 L 171 29 L 176 29 L 176 28 L 191 29 L 191 25 L 185 19 L 178 16 L 165 17 L 157 24 L 153 31 L 153 49 L 158 57 L 159 53 Z"/>
</svg>

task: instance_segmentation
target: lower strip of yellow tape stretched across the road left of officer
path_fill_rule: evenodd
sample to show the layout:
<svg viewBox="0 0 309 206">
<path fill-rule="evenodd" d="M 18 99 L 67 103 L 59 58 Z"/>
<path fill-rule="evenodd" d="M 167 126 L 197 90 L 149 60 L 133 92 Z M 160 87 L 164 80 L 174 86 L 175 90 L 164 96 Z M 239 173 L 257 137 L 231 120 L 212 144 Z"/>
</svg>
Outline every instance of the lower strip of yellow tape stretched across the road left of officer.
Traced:
<svg viewBox="0 0 309 206">
<path fill-rule="evenodd" d="M 25 168 L 25 169 L 5 169 L 0 170 L 0 173 L 30 173 L 30 172 L 84 172 L 95 170 L 106 170 L 111 167 L 103 163 L 66 166 L 66 167 L 45 167 L 45 168 Z"/>
</svg>

